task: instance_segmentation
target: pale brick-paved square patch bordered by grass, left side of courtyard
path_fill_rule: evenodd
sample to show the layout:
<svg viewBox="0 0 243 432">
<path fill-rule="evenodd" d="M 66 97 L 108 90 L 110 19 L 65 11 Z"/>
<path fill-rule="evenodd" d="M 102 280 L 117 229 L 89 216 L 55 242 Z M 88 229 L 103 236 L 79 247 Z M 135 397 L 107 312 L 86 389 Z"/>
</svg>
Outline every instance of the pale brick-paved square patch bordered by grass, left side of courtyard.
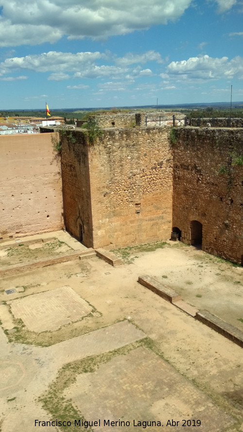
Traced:
<svg viewBox="0 0 243 432">
<path fill-rule="evenodd" d="M 10 306 L 14 316 L 35 332 L 56 330 L 92 311 L 69 286 L 12 300 Z"/>
</svg>

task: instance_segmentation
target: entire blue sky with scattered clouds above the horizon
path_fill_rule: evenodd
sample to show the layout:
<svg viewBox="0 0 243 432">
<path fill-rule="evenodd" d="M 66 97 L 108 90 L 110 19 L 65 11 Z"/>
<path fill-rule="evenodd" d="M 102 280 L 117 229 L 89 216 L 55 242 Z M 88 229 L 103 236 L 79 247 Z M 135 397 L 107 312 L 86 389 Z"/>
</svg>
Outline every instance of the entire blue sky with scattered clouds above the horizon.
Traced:
<svg viewBox="0 0 243 432">
<path fill-rule="evenodd" d="M 243 101 L 243 0 L 0 0 L 0 109 Z"/>
</svg>

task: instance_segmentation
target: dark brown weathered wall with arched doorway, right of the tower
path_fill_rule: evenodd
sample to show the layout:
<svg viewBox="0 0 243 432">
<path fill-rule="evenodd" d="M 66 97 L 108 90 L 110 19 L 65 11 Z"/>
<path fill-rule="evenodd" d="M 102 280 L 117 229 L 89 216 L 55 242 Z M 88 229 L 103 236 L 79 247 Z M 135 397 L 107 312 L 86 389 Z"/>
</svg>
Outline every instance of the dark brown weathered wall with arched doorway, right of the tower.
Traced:
<svg viewBox="0 0 243 432">
<path fill-rule="evenodd" d="M 241 129 L 174 129 L 173 227 L 181 239 L 241 263 L 243 255 L 243 155 Z"/>
</svg>

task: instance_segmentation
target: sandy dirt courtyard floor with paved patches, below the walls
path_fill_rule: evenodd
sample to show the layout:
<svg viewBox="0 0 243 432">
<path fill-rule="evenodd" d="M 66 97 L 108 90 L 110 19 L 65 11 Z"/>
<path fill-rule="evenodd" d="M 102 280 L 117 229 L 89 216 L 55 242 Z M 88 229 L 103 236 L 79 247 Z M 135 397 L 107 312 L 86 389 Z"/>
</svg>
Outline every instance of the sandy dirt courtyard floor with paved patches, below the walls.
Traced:
<svg viewBox="0 0 243 432">
<path fill-rule="evenodd" d="M 243 431 L 242 348 L 137 281 L 154 276 L 243 331 L 243 268 L 179 242 L 159 246 L 115 251 L 123 258 L 117 267 L 94 257 L 1 278 L 2 432 Z M 50 303 L 48 320 L 38 298 Z M 80 304 L 86 309 L 76 311 Z M 36 419 L 71 425 L 35 426 Z M 97 419 L 101 425 L 82 426 Z M 104 426 L 119 419 L 129 425 Z"/>
</svg>

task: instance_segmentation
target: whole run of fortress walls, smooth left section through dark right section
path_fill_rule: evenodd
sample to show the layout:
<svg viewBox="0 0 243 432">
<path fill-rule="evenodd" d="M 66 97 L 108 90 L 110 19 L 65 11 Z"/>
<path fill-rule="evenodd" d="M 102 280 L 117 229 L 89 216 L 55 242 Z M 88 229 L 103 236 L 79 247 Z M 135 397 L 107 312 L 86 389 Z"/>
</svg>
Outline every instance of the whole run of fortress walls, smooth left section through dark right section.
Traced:
<svg viewBox="0 0 243 432">
<path fill-rule="evenodd" d="M 113 128 L 94 145 L 67 131 L 62 180 L 51 137 L 1 138 L 0 238 L 60 229 L 64 211 L 89 247 L 165 240 L 174 227 L 182 241 L 201 235 L 203 250 L 243 264 L 242 129 Z"/>
</svg>

